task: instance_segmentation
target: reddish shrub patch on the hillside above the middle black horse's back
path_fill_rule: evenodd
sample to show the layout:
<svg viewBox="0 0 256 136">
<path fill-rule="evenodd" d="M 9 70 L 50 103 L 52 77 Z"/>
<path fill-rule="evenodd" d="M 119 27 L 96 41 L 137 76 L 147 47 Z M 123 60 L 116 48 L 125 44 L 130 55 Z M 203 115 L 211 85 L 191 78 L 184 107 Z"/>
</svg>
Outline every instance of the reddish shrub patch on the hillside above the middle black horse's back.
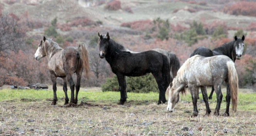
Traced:
<svg viewBox="0 0 256 136">
<path fill-rule="evenodd" d="M 121 27 L 130 27 L 134 30 L 145 31 L 153 27 L 153 22 L 151 20 L 139 20 L 135 22 L 122 23 Z"/>
</svg>

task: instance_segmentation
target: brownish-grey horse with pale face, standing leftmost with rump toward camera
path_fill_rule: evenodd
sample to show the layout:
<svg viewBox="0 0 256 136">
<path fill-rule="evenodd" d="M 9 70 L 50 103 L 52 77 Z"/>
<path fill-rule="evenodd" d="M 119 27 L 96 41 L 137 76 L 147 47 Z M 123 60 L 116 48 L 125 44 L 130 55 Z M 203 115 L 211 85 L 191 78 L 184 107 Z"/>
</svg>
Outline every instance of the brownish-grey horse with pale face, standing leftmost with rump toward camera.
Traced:
<svg viewBox="0 0 256 136">
<path fill-rule="evenodd" d="M 59 45 L 50 38 L 43 38 L 40 41 L 37 51 L 35 52 L 35 59 L 40 60 L 46 56 L 48 58 L 48 68 L 51 73 L 53 101 L 52 105 L 57 102 L 57 87 L 56 79 L 60 77 L 63 79 L 63 91 L 65 93 L 65 103 L 69 103 L 67 97 L 67 81 L 71 89 L 71 103 L 77 104 L 77 95 L 80 89 L 81 75 L 83 68 L 85 69 L 86 78 L 89 78 L 89 58 L 86 46 L 84 44 L 79 47 L 67 47 L 62 49 Z M 74 98 L 75 84 L 72 79 L 72 74 L 76 73 L 76 97 Z"/>
</svg>

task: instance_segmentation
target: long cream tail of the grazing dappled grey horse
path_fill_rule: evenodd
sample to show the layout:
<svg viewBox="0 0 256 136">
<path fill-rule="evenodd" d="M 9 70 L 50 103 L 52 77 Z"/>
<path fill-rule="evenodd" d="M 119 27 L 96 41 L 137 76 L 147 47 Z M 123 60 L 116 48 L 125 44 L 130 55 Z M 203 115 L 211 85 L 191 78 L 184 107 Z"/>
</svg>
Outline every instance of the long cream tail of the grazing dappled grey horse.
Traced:
<svg viewBox="0 0 256 136">
<path fill-rule="evenodd" d="M 237 110 L 237 100 L 238 100 L 238 76 L 236 72 L 236 67 L 233 61 L 227 62 L 228 68 L 228 79 L 230 86 L 230 93 L 232 99 L 232 111 L 236 112 Z"/>
</svg>

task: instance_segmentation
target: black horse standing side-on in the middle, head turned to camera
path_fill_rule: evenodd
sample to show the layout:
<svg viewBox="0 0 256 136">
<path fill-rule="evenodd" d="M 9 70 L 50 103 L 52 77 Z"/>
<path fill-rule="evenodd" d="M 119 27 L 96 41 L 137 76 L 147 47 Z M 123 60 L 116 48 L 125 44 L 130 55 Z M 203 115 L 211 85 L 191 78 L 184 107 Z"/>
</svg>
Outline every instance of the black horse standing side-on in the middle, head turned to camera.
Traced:
<svg viewBox="0 0 256 136">
<path fill-rule="evenodd" d="M 165 91 L 173 79 L 170 76 L 170 66 L 165 55 L 153 50 L 141 53 L 122 51 L 118 48 L 122 45 L 111 39 L 108 33 L 103 36 L 98 33 L 98 36 L 99 57 L 106 58 L 111 70 L 118 78 L 121 93 L 119 104 L 124 104 L 127 98 L 125 76 L 143 76 L 147 73 L 152 73 L 157 81 L 158 104 L 166 102 Z"/>
</svg>

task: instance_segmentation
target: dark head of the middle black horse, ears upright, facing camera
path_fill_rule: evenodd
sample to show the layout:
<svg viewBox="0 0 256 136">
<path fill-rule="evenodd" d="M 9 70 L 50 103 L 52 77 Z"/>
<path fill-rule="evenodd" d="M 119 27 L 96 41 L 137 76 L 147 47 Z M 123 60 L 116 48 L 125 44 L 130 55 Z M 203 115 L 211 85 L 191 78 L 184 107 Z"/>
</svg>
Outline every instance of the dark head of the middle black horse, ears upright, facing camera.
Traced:
<svg viewBox="0 0 256 136">
<path fill-rule="evenodd" d="M 98 33 L 99 36 L 99 40 L 98 40 L 98 44 L 99 44 L 99 57 L 100 58 L 104 58 L 107 50 L 108 50 L 108 46 L 109 46 L 109 34 L 107 33 L 106 35 L 102 36 Z"/>
</svg>

